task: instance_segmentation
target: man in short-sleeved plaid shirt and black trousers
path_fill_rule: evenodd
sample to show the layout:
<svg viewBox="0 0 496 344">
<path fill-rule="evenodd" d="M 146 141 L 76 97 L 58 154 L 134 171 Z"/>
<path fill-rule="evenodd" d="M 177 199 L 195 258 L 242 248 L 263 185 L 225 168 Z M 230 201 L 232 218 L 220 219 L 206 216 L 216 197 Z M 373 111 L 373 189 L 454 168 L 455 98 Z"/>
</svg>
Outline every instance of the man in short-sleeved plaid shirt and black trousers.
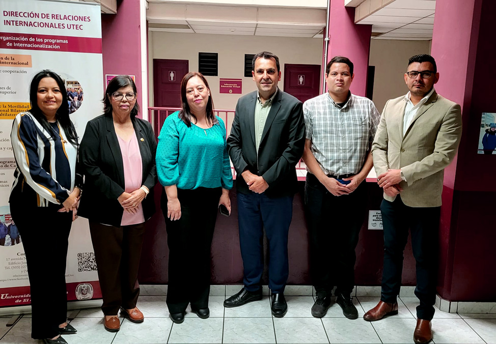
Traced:
<svg viewBox="0 0 496 344">
<path fill-rule="evenodd" d="M 334 286 L 344 316 L 358 317 L 350 295 L 355 247 L 367 205 L 362 182 L 372 168 L 370 147 L 380 114 L 371 100 L 351 94 L 353 77 L 351 61 L 336 56 L 325 67 L 329 92 L 303 105 L 303 160 L 308 170 L 305 210 L 317 292 L 312 316 L 317 318 L 327 312 Z"/>
</svg>

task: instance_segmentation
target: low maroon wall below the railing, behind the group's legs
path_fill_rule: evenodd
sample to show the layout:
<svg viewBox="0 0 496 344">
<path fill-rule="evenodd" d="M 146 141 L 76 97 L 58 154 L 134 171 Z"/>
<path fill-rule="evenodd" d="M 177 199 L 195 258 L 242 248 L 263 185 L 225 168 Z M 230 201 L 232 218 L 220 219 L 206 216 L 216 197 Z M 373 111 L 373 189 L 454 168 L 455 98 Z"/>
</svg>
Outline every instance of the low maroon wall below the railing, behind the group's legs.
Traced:
<svg viewBox="0 0 496 344">
<path fill-rule="evenodd" d="M 309 273 L 309 241 L 307 224 L 303 210 L 303 194 L 305 182 L 299 182 L 300 192 L 294 197 L 293 220 L 289 228 L 289 278 L 288 284 L 311 285 Z M 377 183 L 367 183 L 368 205 L 366 219 L 356 248 L 355 284 L 380 285 L 382 276 L 383 237 L 382 231 L 367 230 L 368 211 L 379 210 L 382 200 L 382 191 Z M 155 188 L 157 213 L 147 223 L 145 244 L 140 265 L 140 283 L 167 283 L 167 265 L 169 249 L 167 248 L 167 234 L 159 199 L 161 188 Z M 236 191 L 231 190 L 232 213 L 229 218 L 218 215 L 217 224 L 212 242 L 212 284 L 242 283 L 243 263 L 239 249 L 239 232 L 237 220 Z M 339 214 L 342 216 L 342 214 Z M 329 250 L 339 245 L 330 242 Z M 265 245 L 266 246 L 266 245 Z M 184 252 L 187 254 L 187 252 Z M 265 252 L 267 261 L 267 252 Z M 329 267 L 332 269 L 332 267 Z M 263 283 L 267 284 L 267 267 L 263 276 Z M 415 261 L 411 254 L 408 242 L 405 249 L 405 264 L 403 269 L 403 284 L 415 285 Z"/>
</svg>

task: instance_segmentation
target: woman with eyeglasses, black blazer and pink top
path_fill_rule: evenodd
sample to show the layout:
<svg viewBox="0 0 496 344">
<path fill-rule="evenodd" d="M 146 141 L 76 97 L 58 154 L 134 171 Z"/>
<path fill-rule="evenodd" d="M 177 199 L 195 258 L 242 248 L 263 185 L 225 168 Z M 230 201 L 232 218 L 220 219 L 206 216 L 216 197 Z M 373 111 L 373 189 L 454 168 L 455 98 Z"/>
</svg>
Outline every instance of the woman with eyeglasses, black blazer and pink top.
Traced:
<svg viewBox="0 0 496 344">
<path fill-rule="evenodd" d="M 133 323 L 144 320 L 136 307 L 137 274 L 145 221 L 155 212 L 157 142 L 150 123 L 136 118 L 140 108 L 132 78 L 113 78 L 103 105 L 104 113 L 88 122 L 79 148 L 86 189 L 78 215 L 90 223 L 104 327 L 117 332 L 119 309 Z"/>
</svg>

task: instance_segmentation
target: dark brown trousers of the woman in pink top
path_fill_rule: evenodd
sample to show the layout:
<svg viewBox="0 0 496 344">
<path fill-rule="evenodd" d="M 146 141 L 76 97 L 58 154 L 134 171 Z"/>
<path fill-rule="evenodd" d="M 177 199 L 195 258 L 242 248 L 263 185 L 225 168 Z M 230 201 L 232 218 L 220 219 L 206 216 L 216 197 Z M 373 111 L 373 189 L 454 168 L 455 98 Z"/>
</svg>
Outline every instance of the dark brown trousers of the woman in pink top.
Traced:
<svg viewBox="0 0 496 344">
<path fill-rule="evenodd" d="M 116 316 L 121 307 L 136 307 L 140 296 L 138 269 L 145 222 L 114 227 L 90 221 L 90 234 L 102 291 L 103 314 Z"/>
</svg>

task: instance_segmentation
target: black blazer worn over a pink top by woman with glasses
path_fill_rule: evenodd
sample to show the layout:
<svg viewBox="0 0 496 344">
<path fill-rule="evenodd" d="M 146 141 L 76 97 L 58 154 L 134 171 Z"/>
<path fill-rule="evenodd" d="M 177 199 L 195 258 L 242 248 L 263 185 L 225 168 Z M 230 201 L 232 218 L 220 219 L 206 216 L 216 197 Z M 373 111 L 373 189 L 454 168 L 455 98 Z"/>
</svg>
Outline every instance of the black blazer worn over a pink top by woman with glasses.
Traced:
<svg viewBox="0 0 496 344">
<path fill-rule="evenodd" d="M 132 125 L 140 145 L 142 185 L 150 190 L 142 202 L 145 220 L 148 220 L 155 212 L 153 187 L 157 183 L 157 141 L 149 122 L 134 118 Z M 79 146 L 79 161 L 85 184 L 77 215 L 120 227 L 124 209 L 117 198 L 124 192 L 124 166 L 112 114 L 102 114 L 88 122 Z"/>
</svg>

